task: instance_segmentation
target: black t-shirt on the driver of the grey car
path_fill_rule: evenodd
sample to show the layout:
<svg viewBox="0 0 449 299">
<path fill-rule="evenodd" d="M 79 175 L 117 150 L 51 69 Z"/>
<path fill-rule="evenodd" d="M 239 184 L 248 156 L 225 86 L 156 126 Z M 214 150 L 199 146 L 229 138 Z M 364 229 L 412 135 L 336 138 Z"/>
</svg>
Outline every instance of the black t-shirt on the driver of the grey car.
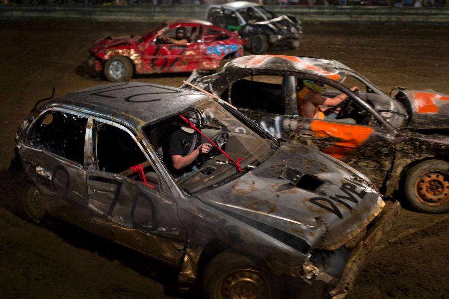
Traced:
<svg viewBox="0 0 449 299">
<path fill-rule="evenodd" d="M 194 149 L 196 149 L 200 145 L 197 133 L 189 134 L 181 129 L 174 131 L 168 139 L 168 154 L 170 155 L 170 157 L 173 155 L 180 155 L 184 157 L 189 154 L 195 136 L 197 141 Z M 192 164 L 194 163 L 196 163 L 196 161 L 194 161 Z M 186 169 L 189 169 L 192 164 L 180 170 L 175 170 L 172 165 L 170 170 L 177 177 L 182 175 Z"/>
</svg>

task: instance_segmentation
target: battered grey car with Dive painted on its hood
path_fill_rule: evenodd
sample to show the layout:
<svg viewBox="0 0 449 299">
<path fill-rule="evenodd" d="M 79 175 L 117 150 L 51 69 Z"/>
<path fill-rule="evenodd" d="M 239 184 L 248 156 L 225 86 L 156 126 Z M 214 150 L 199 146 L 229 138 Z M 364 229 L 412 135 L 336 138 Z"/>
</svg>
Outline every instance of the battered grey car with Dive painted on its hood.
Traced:
<svg viewBox="0 0 449 299">
<path fill-rule="evenodd" d="M 192 111 L 217 150 L 176 180 L 167 136 Z M 344 298 L 400 212 L 351 167 L 186 89 L 68 94 L 34 108 L 16 143 L 34 222 L 50 214 L 177 267 L 209 299 Z"/>
</svg>

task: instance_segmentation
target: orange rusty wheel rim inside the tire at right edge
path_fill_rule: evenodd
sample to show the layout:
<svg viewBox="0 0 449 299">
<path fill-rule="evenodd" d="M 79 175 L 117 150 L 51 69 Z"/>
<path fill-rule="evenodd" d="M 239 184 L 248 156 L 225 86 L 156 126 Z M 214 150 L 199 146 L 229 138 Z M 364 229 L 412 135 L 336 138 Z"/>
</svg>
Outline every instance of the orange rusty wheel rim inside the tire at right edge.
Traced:
<svg viewBox="0 0 449 299">
<path fill-rule="evenodd" d="M 449 198 L 448 174 L 442 171 L 425 173 L 416 182 L 415 193 L 418 199 L 427 205 L 442 205 Z"/>
</svg>

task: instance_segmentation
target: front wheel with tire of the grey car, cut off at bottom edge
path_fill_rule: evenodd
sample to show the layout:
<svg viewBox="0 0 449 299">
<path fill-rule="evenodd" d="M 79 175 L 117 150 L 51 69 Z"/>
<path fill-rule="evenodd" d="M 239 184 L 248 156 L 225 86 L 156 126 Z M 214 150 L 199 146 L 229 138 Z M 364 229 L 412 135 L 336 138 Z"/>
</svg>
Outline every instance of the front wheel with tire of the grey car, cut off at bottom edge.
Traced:
<svg viewBox="0 0 449 299">
<path fill-rule="evenodd" d="M 246 256 L 220 253 L 206 266 L 205 299 L 277 299 L 275 278 L 268 280 L 267 273 Z"/>
</svg>

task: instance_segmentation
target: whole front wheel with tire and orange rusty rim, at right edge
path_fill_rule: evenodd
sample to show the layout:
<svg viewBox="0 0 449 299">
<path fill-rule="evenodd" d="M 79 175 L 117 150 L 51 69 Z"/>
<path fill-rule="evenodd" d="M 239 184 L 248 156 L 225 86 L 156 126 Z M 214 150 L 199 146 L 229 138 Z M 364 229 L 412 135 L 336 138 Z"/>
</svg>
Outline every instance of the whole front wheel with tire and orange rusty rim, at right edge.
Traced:
<svg viewBox="0 0 449 299">
<path fill-rule="evenodd" d="M 449 211 L 449 163 L 426 160 L 405 175 L 404 193 L 410 204 L 426 213 Z"/>
</svg>

